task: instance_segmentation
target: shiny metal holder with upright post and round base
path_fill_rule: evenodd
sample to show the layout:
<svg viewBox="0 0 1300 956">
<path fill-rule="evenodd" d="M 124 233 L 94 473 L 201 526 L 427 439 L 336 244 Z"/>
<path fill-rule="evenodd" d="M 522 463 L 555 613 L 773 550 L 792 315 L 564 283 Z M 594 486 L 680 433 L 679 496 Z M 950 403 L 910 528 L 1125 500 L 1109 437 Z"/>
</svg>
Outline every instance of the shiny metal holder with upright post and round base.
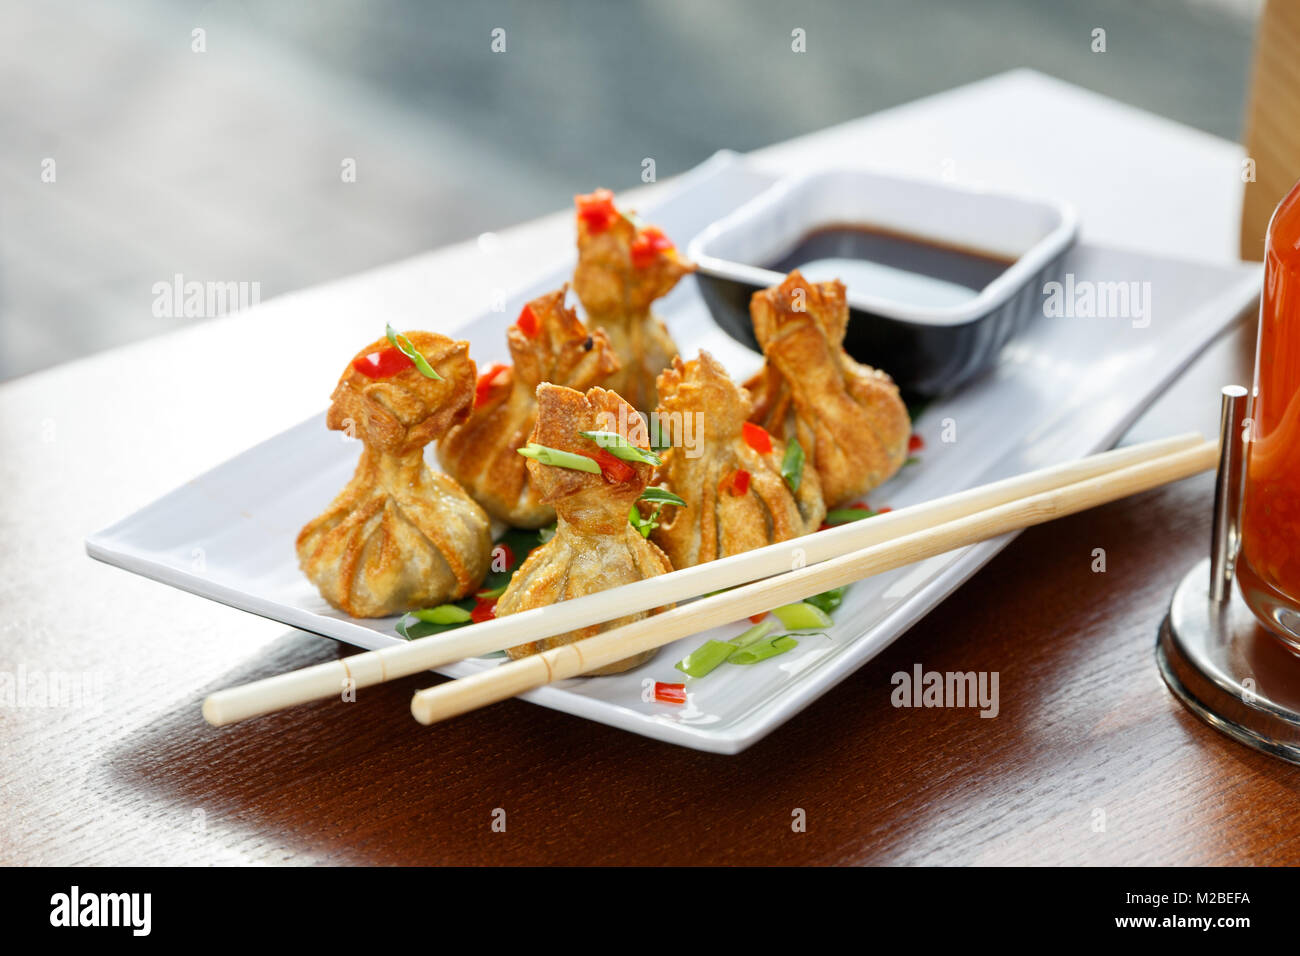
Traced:
<svg viewBox="0 0 1300 956">
<path fill-rule="evenodd" d="M 1300 657 L 1232 587 L 1240 548 L 1247 390 L 1223 389 L 1210 557 L 1174 591 L 1156 641 L 1160 674 L 1187 709 L 1257 750 L 1300 763 Z"/>
</svg>

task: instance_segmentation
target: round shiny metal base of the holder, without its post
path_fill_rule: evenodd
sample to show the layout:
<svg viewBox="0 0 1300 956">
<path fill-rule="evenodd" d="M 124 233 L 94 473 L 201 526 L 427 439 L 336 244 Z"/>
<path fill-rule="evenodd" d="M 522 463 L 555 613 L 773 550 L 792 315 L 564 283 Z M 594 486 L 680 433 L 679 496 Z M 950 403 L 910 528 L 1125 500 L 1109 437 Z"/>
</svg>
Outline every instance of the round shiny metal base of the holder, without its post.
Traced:
<svg viewBox="0 0 1300 956">
<path fill-rule="evenodd" d="M 1193 567 L 1156 641 L 1160 674 L 1187 709 L 1234 740 L 1300 763 L 1300 656 L 1269 633 L 1236 588 L 1210 598 L 1210 561 Z"/>
</svg>

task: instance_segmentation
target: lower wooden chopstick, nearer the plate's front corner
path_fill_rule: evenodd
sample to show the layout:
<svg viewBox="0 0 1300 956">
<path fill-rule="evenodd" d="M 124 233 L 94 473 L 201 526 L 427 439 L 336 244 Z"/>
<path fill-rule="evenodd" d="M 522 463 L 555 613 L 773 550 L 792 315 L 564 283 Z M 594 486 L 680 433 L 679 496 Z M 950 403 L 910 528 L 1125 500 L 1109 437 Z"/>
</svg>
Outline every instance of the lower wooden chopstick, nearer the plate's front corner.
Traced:
<svg viewBox="0 0 1300 956">
<path fill-rule="evenodd" d="M 663 646 L 686 635 L 1209 471 L 1217 462 L 1218 445 L 1204 441 L 1152 460 L 983 509 L 892 541 L 706 597 L 573 644 L 426 688 L 412 697 L 411 713 L 425 724 L 445 721 L 543 684 L 585 674 L 642 650 Z"/>
</svg>

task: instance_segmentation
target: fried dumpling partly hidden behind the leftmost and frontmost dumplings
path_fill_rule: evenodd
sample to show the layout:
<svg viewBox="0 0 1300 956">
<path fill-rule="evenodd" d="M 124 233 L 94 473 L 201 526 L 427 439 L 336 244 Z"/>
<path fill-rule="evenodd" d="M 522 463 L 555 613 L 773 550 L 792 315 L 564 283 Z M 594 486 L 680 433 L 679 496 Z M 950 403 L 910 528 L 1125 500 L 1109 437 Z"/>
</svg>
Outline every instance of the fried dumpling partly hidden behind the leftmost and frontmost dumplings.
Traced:
<svg viewBox="0 0 1300 956">
<path fill-rule="evenodd" d="M 478 382 L 469 420 L 438 442 L 438 460 L 493 518 L 516 528 L 541 528 L 555 509 L 541 501 L 517 449 L 537 420 L 543 381 L 578 390 L 599 385 L 619 367 L 604 333 L 588 333 L 572 308 L 568 286 L 524 306 L 506 338 L 514 367 L 497 367 Z"/>
</svg>

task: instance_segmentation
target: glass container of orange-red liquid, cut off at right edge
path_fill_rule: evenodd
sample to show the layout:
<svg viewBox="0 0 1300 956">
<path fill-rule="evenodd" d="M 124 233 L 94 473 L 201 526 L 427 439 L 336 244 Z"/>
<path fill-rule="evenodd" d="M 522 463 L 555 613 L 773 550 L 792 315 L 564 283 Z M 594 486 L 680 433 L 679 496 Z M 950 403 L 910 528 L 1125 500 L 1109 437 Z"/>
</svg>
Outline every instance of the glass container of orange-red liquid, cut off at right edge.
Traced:
<svg viewBox="0 0 1300 956">
<path fill-rule="evenodd" d="M 1236 579 L 1300 653 L 1300 183 L 1269 224 L 1248 437 Z"/>
</svg>

